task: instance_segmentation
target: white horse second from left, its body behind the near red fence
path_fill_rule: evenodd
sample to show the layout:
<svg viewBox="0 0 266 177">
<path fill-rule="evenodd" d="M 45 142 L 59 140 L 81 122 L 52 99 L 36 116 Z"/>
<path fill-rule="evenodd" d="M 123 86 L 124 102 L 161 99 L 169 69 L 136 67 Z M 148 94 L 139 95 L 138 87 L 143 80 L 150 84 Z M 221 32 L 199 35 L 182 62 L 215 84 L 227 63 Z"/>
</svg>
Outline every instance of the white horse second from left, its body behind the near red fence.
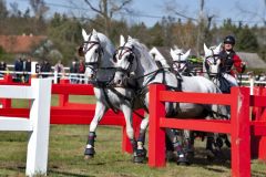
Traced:
<svg viewBox="0 0 266 177">
<path fill-rule="evenodd" d="M 114 83 L 123 86 L 126 76 L 135 80 L 140 86 L 141 95 L 139 97 L 144 100 L 145 106 L 149 107 L 149 91 L 147 86 L 153 83 L 163 83 L 170 90 L 182 92 L 198 92 L 198 93 L 221 93 L 216 85 L 203 76 L 182 76 L 177 80 L 175 74 L 167 70 L 157 67 L 155 61 L 149 54 L 149 50 L 137 40 L 129 37 L 116 50 L 115 58 L 115 72 Z M 217 113 L 222 108 L 226 115 L 226 108 L 217 105 L 201 105 L 192 103 L 166 103 L 166 114 L 168 116 L 177 117 L 205 117 L 206 111 L 208 113 Z M 141 124 L 141 131 L 145 132 L 149 125 L 147 117 Z M 137 149 L 143 149 L 144 139 L 137 139 Z"/>
</svg>

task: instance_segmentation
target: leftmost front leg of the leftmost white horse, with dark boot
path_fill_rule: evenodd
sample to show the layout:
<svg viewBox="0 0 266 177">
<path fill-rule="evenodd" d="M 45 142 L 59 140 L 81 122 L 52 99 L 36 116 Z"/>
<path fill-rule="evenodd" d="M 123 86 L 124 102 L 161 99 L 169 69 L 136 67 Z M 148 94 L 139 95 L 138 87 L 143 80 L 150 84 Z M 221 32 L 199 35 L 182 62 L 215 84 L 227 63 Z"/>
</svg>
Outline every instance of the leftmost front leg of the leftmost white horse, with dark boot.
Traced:
<svg viewBox="0 0 266 177">
<path fill-rule="evenodd" d="M 106 113 L 108 107 L 102 102 L 96 102 L 95 114 L 90 125 L 90 133 L 88 136 L 88 142 L 84 152 L 84 158 L 89 159 L 94 156 L 94 140 L 96 137 L 95 131 L 99 122 L 102 119 L 103 115 Z"/>
</svg>

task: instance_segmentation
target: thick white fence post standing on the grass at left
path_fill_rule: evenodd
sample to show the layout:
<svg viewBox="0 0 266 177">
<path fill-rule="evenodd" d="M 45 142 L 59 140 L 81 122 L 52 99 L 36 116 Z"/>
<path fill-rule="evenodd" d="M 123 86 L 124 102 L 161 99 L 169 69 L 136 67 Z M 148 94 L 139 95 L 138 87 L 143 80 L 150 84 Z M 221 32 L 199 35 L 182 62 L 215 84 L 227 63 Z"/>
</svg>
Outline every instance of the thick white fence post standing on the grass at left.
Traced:
<svg viewBox="0 0 266 177">
<path fill-rule="evenodd" d="M 31 132 L 25 175 L 47 174 L 48 147 L 50 129 L 51 80 L 32 79 L 32 94 L 34 100 L 30 111 Z"/>
</svg>

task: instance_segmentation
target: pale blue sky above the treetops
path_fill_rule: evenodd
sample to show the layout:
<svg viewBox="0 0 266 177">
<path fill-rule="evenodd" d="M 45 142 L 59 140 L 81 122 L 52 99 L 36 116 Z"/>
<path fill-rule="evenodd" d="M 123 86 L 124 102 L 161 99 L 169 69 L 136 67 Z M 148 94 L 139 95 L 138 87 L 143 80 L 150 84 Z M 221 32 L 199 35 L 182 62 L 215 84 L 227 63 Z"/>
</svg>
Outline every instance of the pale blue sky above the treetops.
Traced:
<svg viewBox="0 0 266 177">
<path fill-rule="evenodd" d="M 74 14 L 75 17 L 85 15 L 93 18 L 95 15 L 83 0 L 44 0 L 50 7 L 47 15 L 51 17 L 54 12 L 64 12 Z M 98 0 L 92 0 L 94 4 Z M 119 0 L 114 0 L 119 1 Z M 204 13 L 214 15 L 216 24 L 221 24 L 224 19 L 231 18 L 233 22 L 243 21 L 244 24 L 263 25 L 263 19 L 266 20 L 265 0 L 205 0 Z M 17 2 L 21 11 L 24 11 L 29 6 L 29 0 L 6 0 L 7 6 Z M 133 0 L 130 6 L 133 9 L 133 15 L 117 14 L 115 18 L 124 18 L 131 23 L 144 22 L 147 27 L 154 25 L 162 17 L 175 15 L 166 10 L 166 7 L 176 7 L 175 11 L 185 14 L 190 18 L 197 18 L 200 11 L 200 0 Z M 245 12 L 243 12 L 243 10 Z M 257 14 L 255 14 L 257 13 Z M 186 20 L 181 18 L 183 22 Z"/>
</svg>

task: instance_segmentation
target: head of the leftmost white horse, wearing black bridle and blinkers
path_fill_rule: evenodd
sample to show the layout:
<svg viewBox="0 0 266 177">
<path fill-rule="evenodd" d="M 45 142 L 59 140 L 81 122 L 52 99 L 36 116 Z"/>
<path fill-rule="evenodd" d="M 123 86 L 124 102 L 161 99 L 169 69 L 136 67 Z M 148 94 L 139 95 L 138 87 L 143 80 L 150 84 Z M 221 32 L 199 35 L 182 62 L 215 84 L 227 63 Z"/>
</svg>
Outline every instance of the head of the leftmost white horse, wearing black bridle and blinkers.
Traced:
<svg viewBox="0 0 266 177">
<path fill-rule="evenodd" d="M 86 34 L 85 30 L 82 29 L 82 37 L 83 43 L 79 49 L 79 54 L 80 56 L 85 58 L 85 74 L 92 80 L 95 77 L 99 69 L 103 55 L 103 49 L 95 30 L 92 30 L 90 34 Z"/>
</svg>

